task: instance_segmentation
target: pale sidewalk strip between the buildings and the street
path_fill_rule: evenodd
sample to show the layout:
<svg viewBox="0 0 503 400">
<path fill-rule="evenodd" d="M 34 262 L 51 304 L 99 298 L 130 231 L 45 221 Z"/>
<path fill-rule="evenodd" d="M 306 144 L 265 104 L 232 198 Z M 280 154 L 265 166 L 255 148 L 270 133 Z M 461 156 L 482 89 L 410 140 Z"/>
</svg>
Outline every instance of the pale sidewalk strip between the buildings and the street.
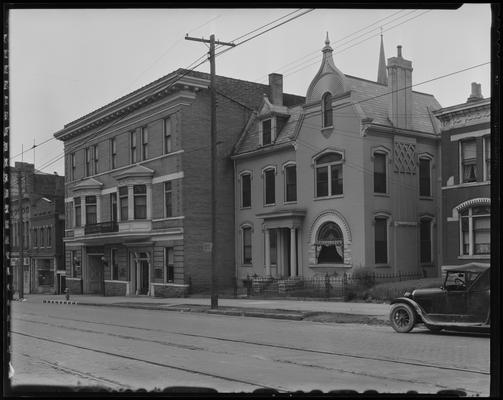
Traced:
<svg viewBox="0 0 503 400">
<path fill-rule="evenodd" d="M 64 295 L 25 295 L 30 303 L 65 302 Z M 76 305 L 142 308 L 166 311 L 192 311 L 250 317 L 311 320 L 323 322 L 356 322 L 382 325 L 388 321 L 389 304 L 346 303 L 253 298 L 219 298 L 218 309 L 210 308 L 209 298 L 160 298 L 147 296 L 72 295 Z M 70 306 L 70 305 L 68 305 Z"/>
</svg>

